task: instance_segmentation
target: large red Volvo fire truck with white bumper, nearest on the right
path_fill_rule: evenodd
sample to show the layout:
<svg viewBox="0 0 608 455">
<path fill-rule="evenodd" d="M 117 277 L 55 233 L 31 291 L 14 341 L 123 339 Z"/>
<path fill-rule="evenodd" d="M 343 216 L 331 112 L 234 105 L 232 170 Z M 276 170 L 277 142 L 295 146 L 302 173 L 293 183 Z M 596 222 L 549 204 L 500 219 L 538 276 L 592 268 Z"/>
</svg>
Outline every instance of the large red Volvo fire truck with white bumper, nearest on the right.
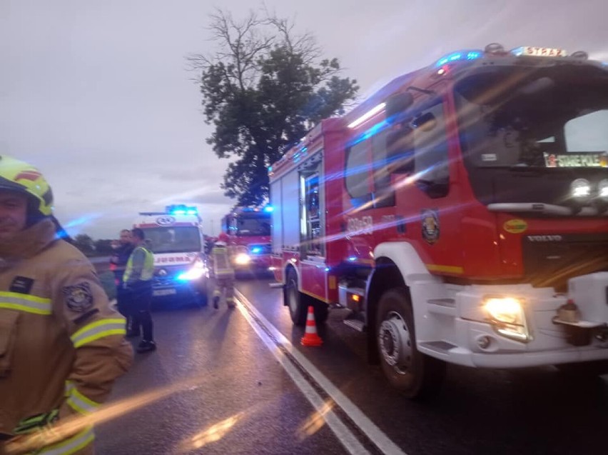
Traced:
<svg viewBox="0 0 608 455">
<path fill-rule="evenodd" d="M 446 362 L 607 371 L 607 152 L 608 66 L 582 51 L 490 44 L 397 77 L 269 169 L 291 319 L 350 309 L 412 398 Z"/>
</svg>

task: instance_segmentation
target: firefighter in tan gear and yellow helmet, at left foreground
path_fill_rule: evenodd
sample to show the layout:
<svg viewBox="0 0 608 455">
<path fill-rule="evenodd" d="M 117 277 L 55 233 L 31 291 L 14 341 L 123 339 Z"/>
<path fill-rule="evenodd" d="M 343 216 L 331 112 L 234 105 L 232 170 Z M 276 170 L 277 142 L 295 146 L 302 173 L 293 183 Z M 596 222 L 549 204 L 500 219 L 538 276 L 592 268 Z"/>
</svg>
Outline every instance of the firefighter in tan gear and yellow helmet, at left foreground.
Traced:
<svg viewBox="0 0 608 455">
<path fill-rule="evenodd" d="M 79 416 L 131 364 L 125 319 L 61 232 L 44 176 L 0 156 L 0 453 L 92 454 Z"/>
</svg>

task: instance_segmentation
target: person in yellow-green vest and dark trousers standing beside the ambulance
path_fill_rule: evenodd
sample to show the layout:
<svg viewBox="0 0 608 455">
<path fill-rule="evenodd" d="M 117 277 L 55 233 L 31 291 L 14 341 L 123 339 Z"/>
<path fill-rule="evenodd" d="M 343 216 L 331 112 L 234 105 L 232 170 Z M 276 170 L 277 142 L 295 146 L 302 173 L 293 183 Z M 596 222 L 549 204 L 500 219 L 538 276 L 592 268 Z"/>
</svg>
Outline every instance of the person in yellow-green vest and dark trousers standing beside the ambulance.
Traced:
<svg viewBox="0 0 608 455">
<path fill-rule="evenodd" d="M 139 228 L 131 230 L 133 253 L 127 261 L 123 276 L 124 286 L 131 291 L 131 307 L 133 309 L 133 324 L 131 330 L 143 332 L 141 343 L 137 346 L 138 352 L 156 351 L 153 336 L 152 316 L 150 305 L 152 303 L 152 277 L 154 274 L 154 255 L 146 246 L 146 236 Z"/>
</svg>

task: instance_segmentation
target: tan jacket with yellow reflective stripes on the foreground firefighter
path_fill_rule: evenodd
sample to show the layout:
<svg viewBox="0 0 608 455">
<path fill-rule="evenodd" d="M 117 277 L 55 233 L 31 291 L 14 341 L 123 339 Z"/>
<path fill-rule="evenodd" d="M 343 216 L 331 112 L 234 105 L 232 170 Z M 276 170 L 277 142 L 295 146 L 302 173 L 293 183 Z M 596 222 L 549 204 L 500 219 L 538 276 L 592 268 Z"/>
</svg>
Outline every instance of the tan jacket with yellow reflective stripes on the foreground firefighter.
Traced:
<svg viewBox="0 0 608 455">
<path fill-rule="evenodd" d="M 59 422 L 95 411 L 131 364 L 124 334 L 91 263 L 50 219 L 0 241 L 0 434 L 56 409 Z M 88 453 L 92 440 L 87 426 L 37 453 Z"/>
</svg>

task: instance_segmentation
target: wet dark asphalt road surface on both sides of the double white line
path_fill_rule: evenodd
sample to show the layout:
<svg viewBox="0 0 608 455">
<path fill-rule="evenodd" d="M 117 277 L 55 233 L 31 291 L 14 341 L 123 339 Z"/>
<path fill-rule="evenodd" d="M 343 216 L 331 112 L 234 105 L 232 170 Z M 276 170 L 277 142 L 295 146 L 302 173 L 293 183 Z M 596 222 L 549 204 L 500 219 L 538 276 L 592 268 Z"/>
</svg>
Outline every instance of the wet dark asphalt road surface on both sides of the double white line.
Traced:
<svg viewBox="0 0 608 455">
<path fill-rule="evenodd" d="M 241 280 L 237 288 L 409 455 L 606 450 L 606 376 L 575 381 L 551 367 L 450 366 L 437 399 L 413 403 L 366 363 L 365 337 L 342 323 L 344 310 L 330 312 L 319 328 L 322 347 L 299 346 L 303 329 L 293 328 L 280 290 L 269 282 Z M 238 310 L 156 311 L 153 319 L 159 349 L 136 356 L 112 401 L 166 386 L 178 391 L 98 426 L 99 454 L 347 453 L 327 426 L 303 430 L 313 406 Z"/>
</svg>

